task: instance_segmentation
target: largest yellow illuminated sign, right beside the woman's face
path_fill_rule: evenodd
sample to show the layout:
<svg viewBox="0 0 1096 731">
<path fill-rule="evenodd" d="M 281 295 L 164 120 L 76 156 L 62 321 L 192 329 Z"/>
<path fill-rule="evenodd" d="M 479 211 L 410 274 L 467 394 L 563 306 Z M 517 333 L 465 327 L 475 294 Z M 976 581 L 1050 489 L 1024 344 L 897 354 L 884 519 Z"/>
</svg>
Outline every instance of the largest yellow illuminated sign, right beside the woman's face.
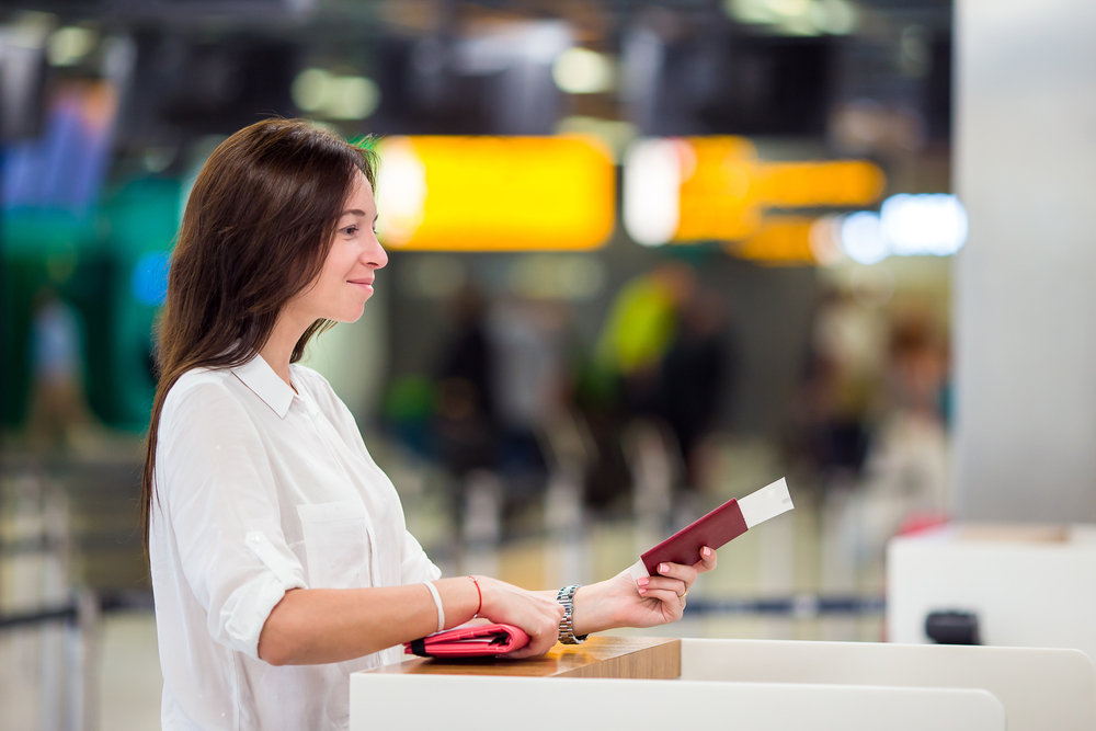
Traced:
<svg viewBox="0 0 1096 731">
<path fill-rule="evenodd" d="M 582 250 L 613 232 L 610 153 L 580 137 L 390 137 L 377 146 L 390 249 Z"/>
</svg>

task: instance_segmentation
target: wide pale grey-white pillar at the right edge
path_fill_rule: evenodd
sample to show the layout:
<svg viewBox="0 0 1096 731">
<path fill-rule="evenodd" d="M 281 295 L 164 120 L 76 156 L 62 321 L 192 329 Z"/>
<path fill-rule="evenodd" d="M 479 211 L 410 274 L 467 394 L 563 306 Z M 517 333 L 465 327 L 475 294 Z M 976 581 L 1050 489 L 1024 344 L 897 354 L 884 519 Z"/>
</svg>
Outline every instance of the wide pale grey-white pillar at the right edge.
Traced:
<svg viewBox="0 0 1096 731">
<path fill-rule="evenodd" d="M 1096 521 L 1096 2 L 957 0 L 958 512 Z"/>
</svg>

